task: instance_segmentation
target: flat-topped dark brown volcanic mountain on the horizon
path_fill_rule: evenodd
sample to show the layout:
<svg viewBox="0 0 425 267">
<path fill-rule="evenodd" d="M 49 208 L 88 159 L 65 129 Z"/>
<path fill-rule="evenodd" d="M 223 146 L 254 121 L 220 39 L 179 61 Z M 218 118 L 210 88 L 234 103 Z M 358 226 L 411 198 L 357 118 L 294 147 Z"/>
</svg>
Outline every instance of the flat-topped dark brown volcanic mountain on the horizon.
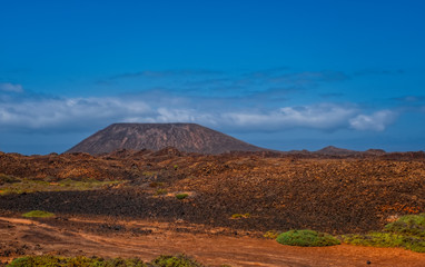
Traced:
<svg viewBox="0 0 425 267">
<path fill-rule="evenodd" d="M 120 149 L 158 151 L 167 147 L 199 154 L 267 151 L 195 123 L 113 123 L 66 152 L 98 155 Z"/>
</svg>

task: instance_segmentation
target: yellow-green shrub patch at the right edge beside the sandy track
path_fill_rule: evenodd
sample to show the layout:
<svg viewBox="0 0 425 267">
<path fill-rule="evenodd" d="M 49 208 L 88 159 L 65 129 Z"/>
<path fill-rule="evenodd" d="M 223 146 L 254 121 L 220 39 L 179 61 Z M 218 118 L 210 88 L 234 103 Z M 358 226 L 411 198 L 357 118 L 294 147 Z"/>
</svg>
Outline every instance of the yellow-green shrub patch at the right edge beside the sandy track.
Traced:
<svg viewBox="0 0 425 267">
<path fill-rule="evenodd" d="M 344 235 L 343 240 L 353 245 L 403 247 L 425 253 L 425 214 L 403 216 L 386 225 L 383 231 Z"/>
</svg>

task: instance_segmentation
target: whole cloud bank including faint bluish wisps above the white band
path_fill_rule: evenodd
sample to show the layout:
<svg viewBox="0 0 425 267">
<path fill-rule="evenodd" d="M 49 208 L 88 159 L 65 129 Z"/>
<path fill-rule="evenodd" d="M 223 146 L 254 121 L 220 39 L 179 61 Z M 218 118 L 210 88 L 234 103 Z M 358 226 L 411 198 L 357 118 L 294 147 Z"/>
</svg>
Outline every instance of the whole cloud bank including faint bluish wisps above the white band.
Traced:
<svg viewBox="0 0 425 267">
<path fill-rule="evenodd" d="M 136 93 L 75 98 L 28 93 L 21 85 L 3 82 L 0 132 L 81 132 L 113 122 L 196 122 L 230 132 L 384 131 L 394 123 L 397 111 L 330 101 L 344 93 L 326 91 L 327 86 L 349 79 L 342 71 L 288 68 L 233 73 L 144 70 L 98 81 L 116 90 L 140 85 Z"/>
</svg>

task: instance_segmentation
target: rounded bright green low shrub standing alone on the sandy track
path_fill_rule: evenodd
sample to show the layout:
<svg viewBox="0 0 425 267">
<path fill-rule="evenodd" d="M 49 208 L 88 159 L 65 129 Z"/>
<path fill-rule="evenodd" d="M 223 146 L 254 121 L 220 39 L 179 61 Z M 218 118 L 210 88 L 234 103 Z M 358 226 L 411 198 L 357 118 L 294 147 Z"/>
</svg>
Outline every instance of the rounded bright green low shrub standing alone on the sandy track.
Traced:
<svg viewBox="0 0 425 267">
<path fill-rule="evenodd" d="M 340 244 L 335 237 L 315 230 L 289 230 L 280 234 L 276 240 L 283 245 L 300 247 L 326 247 Z"/>
</svg>

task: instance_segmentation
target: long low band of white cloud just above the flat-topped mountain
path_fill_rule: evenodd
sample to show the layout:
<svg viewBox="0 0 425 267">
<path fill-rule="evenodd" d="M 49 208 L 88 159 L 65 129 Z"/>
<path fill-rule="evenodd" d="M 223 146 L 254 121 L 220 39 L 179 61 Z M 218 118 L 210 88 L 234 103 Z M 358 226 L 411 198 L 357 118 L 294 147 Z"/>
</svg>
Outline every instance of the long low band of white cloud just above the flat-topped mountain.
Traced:
<svg viewBox="0 0 425 267">
<path fill-rule="evenodd" d="M 202 105 L 202 101 L 204 105 Z M 112 122 L 196 122 L 220 130 L 279 131 L 289 128 L 319 130 L 384 130 L 395 119 L 389 110 L 364 115 L 355 105 L 318 103 L 275 109 L 246 109 L 217 100 L 169 95 L 105 98 L 0 99 L 0 131 L 96 130 Z"/>
</svg>

